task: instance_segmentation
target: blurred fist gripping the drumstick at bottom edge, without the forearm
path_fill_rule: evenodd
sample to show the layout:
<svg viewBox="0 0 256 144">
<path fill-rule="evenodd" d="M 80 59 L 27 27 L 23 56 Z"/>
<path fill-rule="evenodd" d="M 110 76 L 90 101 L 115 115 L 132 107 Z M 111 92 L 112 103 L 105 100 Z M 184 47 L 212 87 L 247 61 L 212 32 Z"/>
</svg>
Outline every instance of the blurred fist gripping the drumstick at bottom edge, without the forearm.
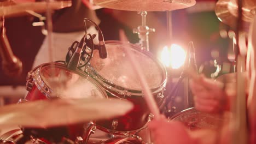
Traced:
<svg viewBox="0 0 256 144">
<path fill-rule="evenodd" d="M 149 123 L 153 142 L 156 144 L 196 143 L 189 136 L 187 128 L 177 121 L 168 122 L 164 116 Z"/>
</svg>

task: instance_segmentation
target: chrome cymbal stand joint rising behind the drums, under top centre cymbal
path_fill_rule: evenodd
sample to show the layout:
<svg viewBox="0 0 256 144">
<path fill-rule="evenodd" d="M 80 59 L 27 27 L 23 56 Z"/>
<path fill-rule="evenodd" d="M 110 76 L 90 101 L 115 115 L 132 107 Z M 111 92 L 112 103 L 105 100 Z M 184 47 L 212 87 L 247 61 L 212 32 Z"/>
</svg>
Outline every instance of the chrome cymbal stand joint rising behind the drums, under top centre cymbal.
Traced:
<svg viewBox="0 0 256 144">
<path fill-rule="evenodd" d="M 147 11 L 139 11 L 138 14 L 141 14 L 142 25 L 138 26 L 137 28 L 134 28 L 133 33 L 138 34 L 141 49 L 149 51 L 148 34 L 149 32 L 155 32 L 155 28 L 149 28 L 146 25 Z"/>
</svg>

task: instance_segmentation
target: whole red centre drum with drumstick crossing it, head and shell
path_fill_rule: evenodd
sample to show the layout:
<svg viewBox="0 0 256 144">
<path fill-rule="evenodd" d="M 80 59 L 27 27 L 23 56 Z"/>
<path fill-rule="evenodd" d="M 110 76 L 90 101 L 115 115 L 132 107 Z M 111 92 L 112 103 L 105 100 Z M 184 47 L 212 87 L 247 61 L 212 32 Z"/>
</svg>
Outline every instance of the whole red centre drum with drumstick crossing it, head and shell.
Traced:
<svg viewBox="0 0 256 144">
<path fill-rule="evenodd" d="M 109 133 L 131 134 L 141 130 L 148 122 L 149 109 L 143 98 L 142 86 L 139 77 L 133 70 L 133 66 L 124 49 L 131 49 L 141 66 L 142 73 L 160 105 L 164 96 L 166 85 L 166 69 L 150 55 L 142 51 L 137 45 L 124 44 L 121 41 L 106 41 L 108 57 L 101 59 L 98 53 L 94 53 L 86 73 L 94 77 L 106 90 L 108 97 L 127 99 L 132 101 L 134 108 L 123 117 L 109 121 L 96 122 L 97 128 Z M 123 133 L 124 132 L 124 133 Z"/>
</svg>

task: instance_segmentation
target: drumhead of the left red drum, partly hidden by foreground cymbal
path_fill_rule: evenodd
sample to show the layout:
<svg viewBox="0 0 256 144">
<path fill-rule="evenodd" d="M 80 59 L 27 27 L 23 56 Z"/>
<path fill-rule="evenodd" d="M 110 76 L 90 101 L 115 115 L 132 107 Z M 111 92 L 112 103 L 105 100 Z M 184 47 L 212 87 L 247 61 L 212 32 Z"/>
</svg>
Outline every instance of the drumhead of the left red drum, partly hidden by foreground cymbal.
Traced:
<svg viewBox="0 0 256 144">
<path fill-rule="evenodd" d="M 50 96 L 72 99 L 107 98 L 100 85 L 81 71 L 71 71 L 59 64 L 46 64 L 40 67 L 39 75 L 36 78 L 37 83 Z"/>
</svg>

